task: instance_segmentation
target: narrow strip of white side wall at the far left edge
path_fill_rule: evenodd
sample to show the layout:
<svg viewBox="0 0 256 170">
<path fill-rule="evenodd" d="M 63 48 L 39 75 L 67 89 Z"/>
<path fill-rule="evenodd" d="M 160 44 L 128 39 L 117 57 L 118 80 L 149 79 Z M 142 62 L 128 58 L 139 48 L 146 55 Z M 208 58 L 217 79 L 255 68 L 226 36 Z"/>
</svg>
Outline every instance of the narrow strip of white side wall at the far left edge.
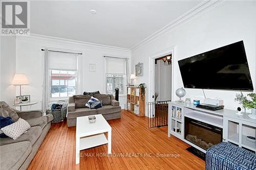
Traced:
<svg viewBox="0 0 256 170">
<path fill-rule="evenodd" d="M 15 36 L 1 36 L 0 101 L 11 107 L 15 98 L 15 86 L 11 85 L 15 74 L 15 44 Z"/>
</svg>

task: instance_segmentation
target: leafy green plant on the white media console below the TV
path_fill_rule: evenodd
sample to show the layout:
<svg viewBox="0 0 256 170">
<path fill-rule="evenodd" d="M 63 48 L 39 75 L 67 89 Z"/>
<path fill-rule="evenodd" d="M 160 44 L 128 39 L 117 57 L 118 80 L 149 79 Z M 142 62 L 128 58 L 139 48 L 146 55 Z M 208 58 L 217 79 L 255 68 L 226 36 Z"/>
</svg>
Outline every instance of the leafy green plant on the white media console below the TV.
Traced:
<svg viewBox="0 0 256 170">
<path fill-rule="evenodd" d="M 249 93 L 247 96 L 249 96 L 251 99 L 247 99 L 246 96 L 244 96 L 242 93 L 237 94 L 236 98 L 234 98 L 234 101 L 238 101 L 239 104 L 248 109 L 256 109 L 256 93 Z"/>
</svg>

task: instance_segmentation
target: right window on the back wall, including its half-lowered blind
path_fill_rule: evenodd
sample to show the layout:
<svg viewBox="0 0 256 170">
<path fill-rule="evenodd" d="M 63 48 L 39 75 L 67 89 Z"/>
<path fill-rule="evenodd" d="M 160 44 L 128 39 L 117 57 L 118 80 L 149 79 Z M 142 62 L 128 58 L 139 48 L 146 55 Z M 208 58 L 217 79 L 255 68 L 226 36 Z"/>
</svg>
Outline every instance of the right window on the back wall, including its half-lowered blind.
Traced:
<svg viewBox="0 0 256 170">
<path fill-rule="evenodd" d="M 115 94 L 115 88 L 119 88 L 119 94 L 124 94 L 126 83 L 126 63 L 125 59 L 114 59 L 106 57 L 106 93 Z"/>
</svg>

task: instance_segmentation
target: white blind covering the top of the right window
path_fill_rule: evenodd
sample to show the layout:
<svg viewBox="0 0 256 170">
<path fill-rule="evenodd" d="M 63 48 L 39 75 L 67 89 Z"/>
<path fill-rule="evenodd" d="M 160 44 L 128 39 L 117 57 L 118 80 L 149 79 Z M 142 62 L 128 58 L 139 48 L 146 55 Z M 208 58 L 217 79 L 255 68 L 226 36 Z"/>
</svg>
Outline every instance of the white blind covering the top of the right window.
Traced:
<svg viewBox="0 0 256 170">
<path fill-rule="evenodd" d="M 125 59 L 106 58 L 106 74 L 125 74 Z"/>
</svg>

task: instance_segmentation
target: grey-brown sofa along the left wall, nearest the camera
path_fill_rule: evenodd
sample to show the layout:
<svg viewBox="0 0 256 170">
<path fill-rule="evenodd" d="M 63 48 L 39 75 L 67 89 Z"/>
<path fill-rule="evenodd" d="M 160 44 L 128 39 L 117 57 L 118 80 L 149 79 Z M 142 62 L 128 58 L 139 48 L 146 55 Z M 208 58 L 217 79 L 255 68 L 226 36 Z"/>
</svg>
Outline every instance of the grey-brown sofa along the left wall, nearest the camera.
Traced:
<svg viewBox="0 0 256 170">
<path fill-rule="evenodd" d="M 13 119 L 21 117 L 31 126 L 16 140 L 0 138 L 0 169 L 27 169 L 51 128 L 53 116 L 42 116 L 40 110 L 17 111 L 5 102 L 0 102 L 0 115 L 11 116 Z"/>
</svg>

